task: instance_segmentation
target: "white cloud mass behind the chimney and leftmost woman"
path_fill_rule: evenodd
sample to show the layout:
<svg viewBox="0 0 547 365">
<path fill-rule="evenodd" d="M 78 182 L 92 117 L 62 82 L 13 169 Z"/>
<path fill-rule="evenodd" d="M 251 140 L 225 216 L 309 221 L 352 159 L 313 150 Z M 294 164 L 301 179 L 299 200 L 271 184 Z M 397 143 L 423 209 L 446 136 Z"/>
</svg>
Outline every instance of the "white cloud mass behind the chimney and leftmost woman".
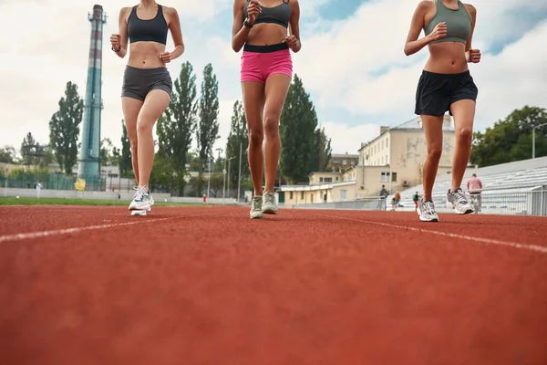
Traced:
<svg viewBox="0 0 547 365">
<path fill-rule="evenodd" d="M 37 141 L 46 143 L 49 140 L 48 121 L 57 111 L 57 102 L 64 95 L 67 81 L 76 83 L 80 96 L 85 97 L 90 37 L 88 13 L 95 4 L 90 1 L 67 3 L 62 0 L 2 2 L 0 33 L 12 37 L 8 41 L 8 37 L 4 36 L 0 41 L 0 79 L 3 86 L 0 89 L 0 121 L 3 127 L 0 146 L 10 144 L 18 148 L 28 131 L 32 131 Z M 110 138 L 117 146 L 121 144 L 120 120 L 123 116 L 120 92 L 127 58 L 120 59 L 110 52 L 108 36 L 118 33 L 119 9 L 128 5 L 131 4 L 119 0 L 111 0 L 108 5 L 103 5 L 108 18 L 103 29 L 104 110 L 101 137 Z M 172 0 L 169 5 L 178 9 L 187 46 L 184 56 L 170 64 L 171 77 L 173 80 L 177 78 L 182 62 L 189 59 L 197 76 L 199 94 L 202 68 L 212 61 L 222 89 L 222 81 L 231 75 L 222 76 L 217 72 L 214 55 L 218 50 L 204 51 L 206 49 L 201 44 L 206 37 L 189 37 L 188 34 L 195 31 L 192 25 L 196 22 L 211 20 L 213 16 L 227 11 L 231 5 L 222 0 Z M 21 26 L 22 18 L 27 19 L 32 26 Z M 167 47 L 173 47 L 170 38 Z M 220 66 L 222 71 L 222 64 Z M 232 70 L 230 72 L 237 73 Z M 233 92 L 223 92 L 222 95 L 227 95 L 228 98 L 221 99 L 220 110 L 221 133 L 225 143 L 225 126 L 228 123 L 229 131 L 233 98 L 236 96 Z M 5 128 L 6 126 L 9 128 Z M 217 141 L 219 143 L 222 140 Z"/>
</svg>

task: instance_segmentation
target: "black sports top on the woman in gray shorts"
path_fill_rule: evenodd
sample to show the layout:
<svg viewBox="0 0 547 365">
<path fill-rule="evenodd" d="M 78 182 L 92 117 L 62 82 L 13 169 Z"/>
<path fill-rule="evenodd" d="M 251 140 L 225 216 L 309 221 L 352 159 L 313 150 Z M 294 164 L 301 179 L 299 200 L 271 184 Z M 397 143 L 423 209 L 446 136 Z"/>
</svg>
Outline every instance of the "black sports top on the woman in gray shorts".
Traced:
<svg viewBox="0 0 547 365">
<path fill-rule="evenodd" d="M 129 43 L 157 42 L 162 45 L 167 43 L 169 27 L 163 16 L 161 5 L 158 5 L 158 13 L 152 19 L 142 20 L 137 16 L 137 5 L 133 6 L 128 19 Z"/>
</svg>

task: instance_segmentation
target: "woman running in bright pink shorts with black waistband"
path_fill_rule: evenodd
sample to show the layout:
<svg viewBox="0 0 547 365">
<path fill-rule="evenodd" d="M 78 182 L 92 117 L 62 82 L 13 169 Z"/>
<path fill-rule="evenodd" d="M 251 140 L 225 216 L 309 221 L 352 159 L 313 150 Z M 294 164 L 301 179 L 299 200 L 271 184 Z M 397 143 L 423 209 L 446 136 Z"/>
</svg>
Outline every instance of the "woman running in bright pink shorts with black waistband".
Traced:
<svg viewBox="0 0 547 365">
<path fill-rule="evenodd" d="M 244 46 L 241 81 L 254 187 L 252 219 L 277 214 L 274 182 L 281 151 L 279 118 L 293 78 L 289 49 L 298 52 L 302 47 L 299 19 L 298 0 L 233 2 L 232 48 L 239 52 Z M 289 26 L 290 35 L 287 34 Z"/>
</svg>

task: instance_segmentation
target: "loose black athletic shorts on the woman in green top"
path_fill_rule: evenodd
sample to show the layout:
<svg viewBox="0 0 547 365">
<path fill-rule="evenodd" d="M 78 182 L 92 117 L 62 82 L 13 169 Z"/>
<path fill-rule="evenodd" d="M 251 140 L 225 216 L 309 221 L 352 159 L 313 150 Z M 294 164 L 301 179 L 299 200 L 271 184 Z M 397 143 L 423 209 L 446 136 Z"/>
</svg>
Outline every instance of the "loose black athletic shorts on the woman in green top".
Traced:
<svg viewBox="0 0 547 365">
<path fill-rule="evenodd" d="M 423 71 L 416 89 L 418 115 L 444 115 L 458 100 L 477 101 L 479 89 L 471 78 L 470 70 L 459 74 L 437 74 Z"/>
</svg>

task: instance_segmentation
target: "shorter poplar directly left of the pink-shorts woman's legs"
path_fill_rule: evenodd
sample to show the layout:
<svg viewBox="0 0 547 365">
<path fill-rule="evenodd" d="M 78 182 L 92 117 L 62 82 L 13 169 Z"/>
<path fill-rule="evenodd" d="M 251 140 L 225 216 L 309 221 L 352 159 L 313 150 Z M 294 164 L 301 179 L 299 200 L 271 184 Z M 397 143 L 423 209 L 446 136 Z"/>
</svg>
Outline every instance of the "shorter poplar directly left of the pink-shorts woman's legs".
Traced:
<svg viewBox="0 0 547 365">
<path fill-rule="evenodd" d="M 249 159 L 247 157 L 247 147 L 249 145 L 249 134 L 247 130 L 247 120 L 245 119 L 245 110 L 243 110 L 243 102 L 235 101 L 233 103 L 232 112 L 232 127 L 228 135 L 226 146 L 226 158 L 230 160 L 230 188 L 237 189 L 239 176 L 239 158 L 240 158 L 240 143 L 242 147 L 242 180 L 250 177 Z M 227 164 L 227 163 L 226 163 Z M 228 167 L 226 167 L 228 170 Z M 228 173 L 228 171 L 226 171 Z M 227 184 L 227 183 L 226 183 Z"/>
</svg>

